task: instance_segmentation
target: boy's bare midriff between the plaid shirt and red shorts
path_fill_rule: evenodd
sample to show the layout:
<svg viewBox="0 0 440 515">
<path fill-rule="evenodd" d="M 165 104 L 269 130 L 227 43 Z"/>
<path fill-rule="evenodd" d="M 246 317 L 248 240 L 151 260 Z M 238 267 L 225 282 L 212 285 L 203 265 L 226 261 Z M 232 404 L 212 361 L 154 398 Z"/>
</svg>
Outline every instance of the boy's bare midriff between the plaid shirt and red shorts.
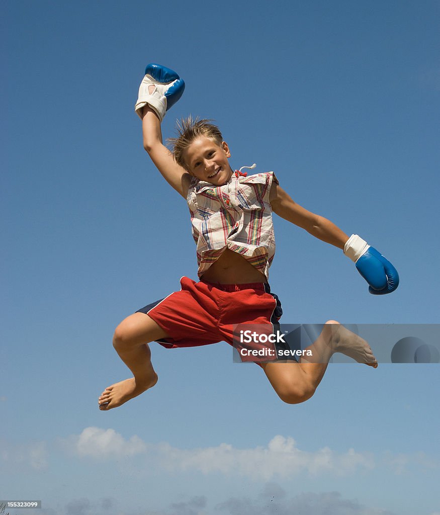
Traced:
<svg viewBox="0 0 440 515">
<path fill-rule="evenodd" d="M 203 274 L 203 281 L 219 284 L 266 283 L 259 272 L 240 254 L 226 249 L 225 252 Z"/>
</svg>

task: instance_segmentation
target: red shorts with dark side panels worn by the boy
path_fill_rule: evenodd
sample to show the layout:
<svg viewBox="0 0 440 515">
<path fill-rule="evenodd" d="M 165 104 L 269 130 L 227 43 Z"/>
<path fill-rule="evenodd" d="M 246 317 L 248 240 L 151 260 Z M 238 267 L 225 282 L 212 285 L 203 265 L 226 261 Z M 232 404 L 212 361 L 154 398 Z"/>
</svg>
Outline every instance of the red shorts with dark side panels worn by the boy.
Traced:
<svg viewBox="0 0 440 515">
<path fill-rule="evenodd" d="M 236 338 L 233 340 L 237 324 L 267 324 L 272 333 L 282 315 L 281 303 L 267 283 L 196 283 L 182 277 L 180 284 L 180 291 L 137 312 L 147 314 L 168 334 L 158 340 L 168 349 L 218 341 L 237 348 Z"/>
</svg>

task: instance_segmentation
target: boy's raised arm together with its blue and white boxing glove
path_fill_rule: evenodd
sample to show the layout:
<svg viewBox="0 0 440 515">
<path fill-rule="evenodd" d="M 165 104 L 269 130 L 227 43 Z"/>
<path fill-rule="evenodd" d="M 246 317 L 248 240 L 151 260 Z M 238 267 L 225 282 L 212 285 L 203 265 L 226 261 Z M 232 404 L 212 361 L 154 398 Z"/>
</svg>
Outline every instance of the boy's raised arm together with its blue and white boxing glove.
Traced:
<svg viewBox="0 0 440 515">
<path fill-rule="evenodd" d="M 170 68 L 148 64 L 134 110 L 142 119 L 145 150 L 165 180 L 186 198 L 191 176 L 163 145 L 160 127 L 165 112 L 181 97 L 184 87 L 183 80 Z"/>
</svg>

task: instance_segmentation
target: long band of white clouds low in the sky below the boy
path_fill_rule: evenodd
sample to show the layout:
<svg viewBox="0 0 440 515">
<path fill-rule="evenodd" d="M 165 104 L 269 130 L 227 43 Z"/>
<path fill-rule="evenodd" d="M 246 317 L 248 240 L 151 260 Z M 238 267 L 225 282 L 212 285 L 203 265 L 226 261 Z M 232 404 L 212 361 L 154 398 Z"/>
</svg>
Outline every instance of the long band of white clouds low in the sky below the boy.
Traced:
<svg viewBox="0 0 440 515">
<path fill-rule="evenodd" d="M 239 474 L 258 480 L 268 480 L 276 475 L 287 477 L 308 472 L 317 475 L 325 472 L 346 474 L 355 469 L 371 469 L 373 457 L 349 449 L 336 453 L 324 447 L 315 452 L 301 451 L 295 440 L 275 436 L 266 447 L 234 448 L 230 443 L 215 447 L 178 449 L 169 443 L 146 444 L 138 436 L 129 440 L 113 429 L 86 427 L 80 435 L 64 443 L 80 457 L 115 458 L 148 454 L 148 461 L 168 471 L 194 470 L 205 474 L 222 472 Z"/>
</svg>

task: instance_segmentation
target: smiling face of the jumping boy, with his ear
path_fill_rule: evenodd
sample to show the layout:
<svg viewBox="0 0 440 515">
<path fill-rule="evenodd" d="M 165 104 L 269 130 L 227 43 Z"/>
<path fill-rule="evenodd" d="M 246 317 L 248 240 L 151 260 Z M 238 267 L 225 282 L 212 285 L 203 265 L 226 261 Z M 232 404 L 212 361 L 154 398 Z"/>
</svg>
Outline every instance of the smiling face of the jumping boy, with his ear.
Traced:
<svg viewBox="0 0 440 515">
<path fill-rule="evenodd" d="M 216 186 L 226 184 L 231 178 L 229 156 L 226 142 L 218 145 L 207 136 L 194 140 L 184 152 L 184 160 L 191 175 Z"/>
</svg>

